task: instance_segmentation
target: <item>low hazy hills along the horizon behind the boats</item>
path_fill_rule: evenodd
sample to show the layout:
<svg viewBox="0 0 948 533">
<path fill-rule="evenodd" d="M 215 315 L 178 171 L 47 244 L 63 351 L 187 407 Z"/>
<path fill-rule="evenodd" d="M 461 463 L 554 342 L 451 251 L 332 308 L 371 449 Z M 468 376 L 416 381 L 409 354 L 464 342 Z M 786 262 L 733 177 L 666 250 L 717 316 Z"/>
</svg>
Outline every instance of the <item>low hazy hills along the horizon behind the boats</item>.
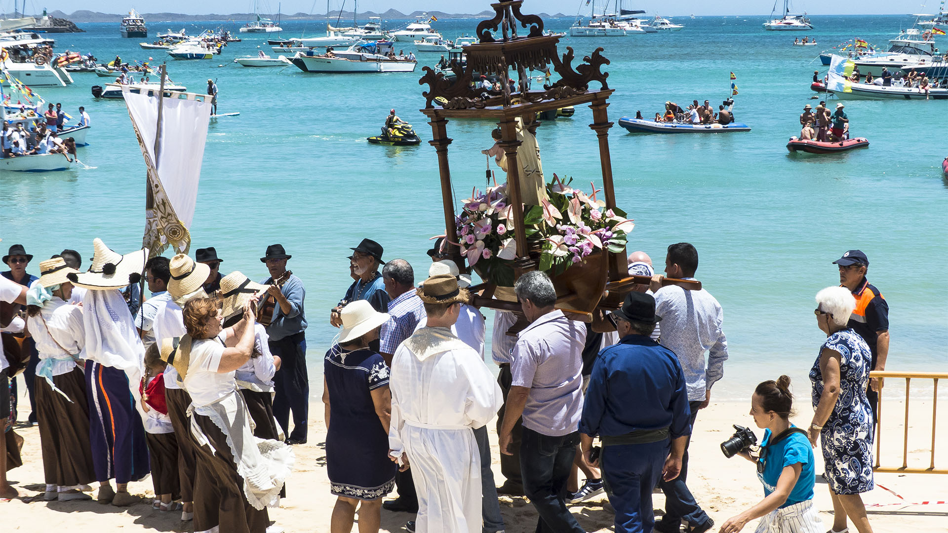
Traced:
<svg viewBox="0 0 948 533">
<path fill-rule="evenodd" d="M 204 15 L 189 15 L 184 13 L 140 13 L 141 17 L 145 19 L 145 22 L 201 22 L 201 21 L 235 21 L 235 22 L 245 22 L 256 20 L 257 15 L 255 13 L 229 13 L 229 14 L 220 14 L 220 13 L 209 13 Z M 480 13 L 445 13 L 442 11 L 413 11 L 411 13 L 405 14 L 397 9 L 389 9 L 384 13 L 375 13 L 373 11 L 359 11 L 358 20 L 364 21 L 369 17 L 381 17 L 383 20 L 408 20 L 415 17 L 425 16 L 435 16 L 439 19 L 485 19 L 493 16 L 493 11 L 481 11 Z M 551 15 L 548 13 L 538 13 L 539 16 L 543 18 L 557 18 L 565 17 L 563 13 L 556 13 Z M 70 20 L 76 23 L 96 23 L 96 22 L 121 22 L 121 19 L 125 16 L 124 14 L 113 14 L 113 13 L 102 13 L 99 11 L 90 11 L 87 9 L 81 9 L 78 11 L 73 11 L 71 14 L 66 14 L 63 11 L 57 9 L 55 11 L 49 12 L 50 16 L 63 18 Z M 342 20 L 352 20 L 353 12 L 352 11 L 342 11 L 342 14 L 339 14 L 339 11 L 330 11 L 327 16 L 326 13 L 271 13 L 264 14 L 261 13 L 260 16 L 277 19 L 278 17 L 282 20 L 327 20 L 327 19 L 337 19 L 341 18 Z"/>
</svg>

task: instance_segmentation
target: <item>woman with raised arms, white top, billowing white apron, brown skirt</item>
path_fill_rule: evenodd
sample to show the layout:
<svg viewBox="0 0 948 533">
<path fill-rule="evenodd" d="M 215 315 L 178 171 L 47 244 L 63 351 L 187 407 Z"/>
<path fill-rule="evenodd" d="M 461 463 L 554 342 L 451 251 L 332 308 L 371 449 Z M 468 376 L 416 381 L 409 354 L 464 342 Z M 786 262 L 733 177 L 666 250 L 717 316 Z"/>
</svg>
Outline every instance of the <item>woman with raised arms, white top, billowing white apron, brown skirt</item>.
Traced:
<svg viewBox="0 0 948 533">
<path fill-rule="evenodd" d="M 266 505 L 280 497 L 293 453 L 282 442 L 253 436 L 246 402 L 237 392 L 234 371 L 253 351 L 253 304 L 226 330 L 214 299 L 189 300 L 183 318 L 188 334 L 170 360 L 191 395 L 191 428 L 199 444 L 194 530 L 264 533 Z"/>
</svg>

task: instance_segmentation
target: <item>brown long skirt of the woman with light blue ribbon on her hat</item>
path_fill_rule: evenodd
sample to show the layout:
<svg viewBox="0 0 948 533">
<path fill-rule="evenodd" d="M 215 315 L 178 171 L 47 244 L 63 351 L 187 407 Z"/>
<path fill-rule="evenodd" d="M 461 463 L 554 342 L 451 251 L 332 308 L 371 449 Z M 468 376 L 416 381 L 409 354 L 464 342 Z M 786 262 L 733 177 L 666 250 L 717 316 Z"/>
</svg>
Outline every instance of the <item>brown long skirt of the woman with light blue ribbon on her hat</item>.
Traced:
<svg viewBox="0 0 948 533">
<path fill-rule="evenodd" d="M 46 485 L 73 487 L 96 481 L 89 443 L 89 407 L 82 369 L 53 377 L 56 388 L 69 399 L 53 391 L 45 377 L 37 377 L 36 422 L 43 450 Z"/>
</svg>

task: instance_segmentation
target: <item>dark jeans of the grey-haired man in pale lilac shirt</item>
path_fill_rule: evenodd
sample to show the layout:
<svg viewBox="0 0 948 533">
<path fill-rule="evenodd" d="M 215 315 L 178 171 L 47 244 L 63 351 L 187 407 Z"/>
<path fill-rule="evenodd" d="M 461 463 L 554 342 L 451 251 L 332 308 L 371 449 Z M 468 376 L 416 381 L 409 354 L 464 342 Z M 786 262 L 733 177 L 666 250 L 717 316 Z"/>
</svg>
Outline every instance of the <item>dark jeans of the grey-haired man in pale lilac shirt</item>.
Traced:
<svg viewBox="0 0 948 533">
<path fill-rule="evenodd" d="M 583 533 L 564 500 L 579 432 L 556 437 L 523 428 L 521 435 L 523 492 L 537 507 L 537 533 Z"/>
</svg>

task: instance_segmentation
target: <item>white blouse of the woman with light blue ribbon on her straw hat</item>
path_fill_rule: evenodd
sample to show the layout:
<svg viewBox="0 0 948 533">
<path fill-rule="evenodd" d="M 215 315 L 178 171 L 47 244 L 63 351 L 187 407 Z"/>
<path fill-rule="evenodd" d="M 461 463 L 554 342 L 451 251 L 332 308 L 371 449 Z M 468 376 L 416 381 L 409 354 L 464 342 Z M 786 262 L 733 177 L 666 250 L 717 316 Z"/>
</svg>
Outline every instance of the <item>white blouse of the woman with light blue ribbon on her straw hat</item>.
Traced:
<svg viewBox="0 0 948 533">
<path fill-rule="evenodd" d="M 54 296 L 40 309 L 39 315 L 27 317 L 27 328 L 36 341 L 36 351 L 40 353 L 37 375 L 41 374 L 41 367 L 45 366 L 51 368 L 52 376 L 60 376 L 76 368 L 76 360 L 71 356 L 78 357 L 85 347 L 81 307 L 65 303 Z"/>
</svg>

